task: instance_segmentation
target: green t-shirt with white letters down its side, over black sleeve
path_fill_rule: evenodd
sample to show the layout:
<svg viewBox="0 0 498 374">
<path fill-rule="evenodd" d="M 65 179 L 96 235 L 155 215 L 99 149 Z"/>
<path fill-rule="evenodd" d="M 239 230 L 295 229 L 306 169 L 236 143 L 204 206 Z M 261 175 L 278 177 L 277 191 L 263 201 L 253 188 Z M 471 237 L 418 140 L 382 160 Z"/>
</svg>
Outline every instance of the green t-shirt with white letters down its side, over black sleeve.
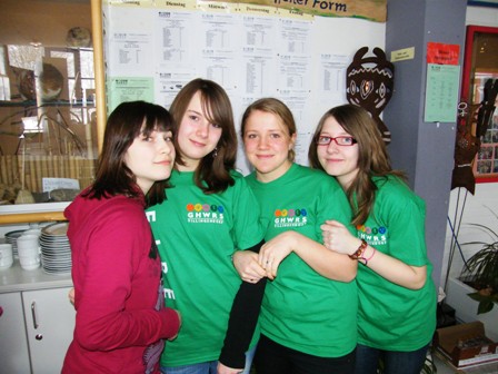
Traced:
<svg viewBox="0 0 498 374">
<path fill-rule="evenodd" d="M 166 305 L 180 311 L 182 319 L 178 337 L 166 343 L 161 365 L 219 357 L 241 284 L 231 255 L 263 237 L 258 201 L 240 174 L 232 177 L 236 184 L 226 191 L 206 195 L 193 173 L 173 171 L 167 200 L 147 210 L 161 257 Z"/>
</svg>

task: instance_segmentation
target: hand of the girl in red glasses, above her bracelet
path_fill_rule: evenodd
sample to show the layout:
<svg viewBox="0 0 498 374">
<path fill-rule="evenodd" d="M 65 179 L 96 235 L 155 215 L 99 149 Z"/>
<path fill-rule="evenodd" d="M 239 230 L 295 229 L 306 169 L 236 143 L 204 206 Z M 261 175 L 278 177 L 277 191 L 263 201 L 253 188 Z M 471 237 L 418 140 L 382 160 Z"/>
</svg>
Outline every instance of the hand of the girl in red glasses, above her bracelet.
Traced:
<svg viewBox="0 0 498 374">
<path fill-rule="evenodd" d="M 331 250 L 345 255 L 352 255 L 361 240 L 352 236 L 348 228 L 337 220 L 326 220 L 320 226 L 323 245 Z"/>
</svg>

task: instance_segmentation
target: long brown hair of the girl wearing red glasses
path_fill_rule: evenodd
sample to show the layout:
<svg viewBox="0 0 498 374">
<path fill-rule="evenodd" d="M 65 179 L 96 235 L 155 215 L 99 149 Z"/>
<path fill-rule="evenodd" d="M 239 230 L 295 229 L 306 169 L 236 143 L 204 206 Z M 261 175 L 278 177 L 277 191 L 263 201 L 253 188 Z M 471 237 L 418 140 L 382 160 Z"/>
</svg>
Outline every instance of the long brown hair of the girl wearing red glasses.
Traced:
<svg viewBox="0 0 498 374">
<path fill-rule="evenodd" d="M 353 209 L 352 224 L 362 225 L 370 215 L 376 198 L 377 186 L 371 178 L 394 175 L 405 180 L 405 174 L 392 169 L 386 144 L 368 111 L 350 104 L 335 107 L 321 117 L 308 151 L 311 167 L 323 170 L 318 160 L 316 139 L 330 117 L 358 141 L 358 174 L 346 189 L 346 195 Z"/>
</svg>

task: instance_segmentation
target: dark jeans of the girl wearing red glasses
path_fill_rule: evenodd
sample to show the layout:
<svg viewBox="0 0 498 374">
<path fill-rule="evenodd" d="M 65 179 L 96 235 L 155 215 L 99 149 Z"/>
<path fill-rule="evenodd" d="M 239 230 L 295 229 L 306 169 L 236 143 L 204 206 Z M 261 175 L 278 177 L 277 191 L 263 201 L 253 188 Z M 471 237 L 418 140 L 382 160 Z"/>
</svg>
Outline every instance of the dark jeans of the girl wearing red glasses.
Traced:
<svg viewBox="0 0 498 374">
<path fill-rule="evenodd" d="M 358 344 L 355 374 L 376 374 L 379 358 L 384 361 L 384 374 L 420 374 L 429 344 L 410 352 L 381 351 Z"/>
</svg>

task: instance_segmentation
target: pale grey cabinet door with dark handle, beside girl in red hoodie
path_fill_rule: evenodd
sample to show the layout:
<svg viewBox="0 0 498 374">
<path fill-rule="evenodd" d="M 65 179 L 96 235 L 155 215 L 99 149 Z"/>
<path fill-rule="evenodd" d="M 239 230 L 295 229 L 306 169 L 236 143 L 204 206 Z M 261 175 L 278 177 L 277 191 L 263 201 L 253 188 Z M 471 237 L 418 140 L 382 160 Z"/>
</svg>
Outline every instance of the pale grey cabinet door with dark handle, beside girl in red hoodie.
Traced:
<svg viewBox="0 0 498 374">
<path fill-rule="evenodd" d="M 69 287 L 22 293 L 33 374 L 60 373 L 74 331 Z"/>
</svg>

